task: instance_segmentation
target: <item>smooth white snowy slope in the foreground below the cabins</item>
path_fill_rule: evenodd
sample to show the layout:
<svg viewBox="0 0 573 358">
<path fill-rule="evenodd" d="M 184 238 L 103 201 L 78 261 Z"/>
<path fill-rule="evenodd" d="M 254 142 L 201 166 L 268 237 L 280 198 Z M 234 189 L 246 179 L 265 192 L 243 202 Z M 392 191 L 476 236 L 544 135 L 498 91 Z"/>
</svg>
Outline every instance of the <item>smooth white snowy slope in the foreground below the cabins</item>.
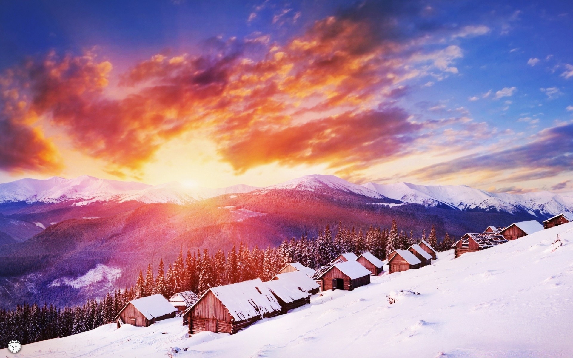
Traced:
<svg viewBox="0 0 573 358">
<path fill-rule="evenodd" d="M 558 233 L 563 246 L 553 244 Z M 329 292 L 233 336 L 187 338 L 173 318 L 149 328 L 107 325 L 0 356 L 571 357 L 572 288 L 570 223 L 458 259 L 441 253 L 431 266 Z"/>
</svg>

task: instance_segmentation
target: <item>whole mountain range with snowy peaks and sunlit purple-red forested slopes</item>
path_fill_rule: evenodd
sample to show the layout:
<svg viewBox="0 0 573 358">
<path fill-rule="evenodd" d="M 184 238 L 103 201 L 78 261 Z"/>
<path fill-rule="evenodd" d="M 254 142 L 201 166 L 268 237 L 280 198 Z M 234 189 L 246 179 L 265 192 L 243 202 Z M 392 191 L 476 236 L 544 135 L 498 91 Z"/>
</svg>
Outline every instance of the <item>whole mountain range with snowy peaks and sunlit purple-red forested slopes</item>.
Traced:
<svg viewBox="0 0 573 358">
<path fill-rule="evenodd" d="M 131 285 L 148 263 L 179 250 L 278 245 L 339 223 L 390 227 L 420 237 L 458 238 L 486 226 L 542 220 L 571 211 L 550 191 L 496 194 L 467 186 L 358 185 L 307 175 L 257 188 L 158 186 L 80 176 L 0 184 L 0 303 L 81 303 Z M 1 305 L 0 305 L 1 306 Z"/>
</svg>

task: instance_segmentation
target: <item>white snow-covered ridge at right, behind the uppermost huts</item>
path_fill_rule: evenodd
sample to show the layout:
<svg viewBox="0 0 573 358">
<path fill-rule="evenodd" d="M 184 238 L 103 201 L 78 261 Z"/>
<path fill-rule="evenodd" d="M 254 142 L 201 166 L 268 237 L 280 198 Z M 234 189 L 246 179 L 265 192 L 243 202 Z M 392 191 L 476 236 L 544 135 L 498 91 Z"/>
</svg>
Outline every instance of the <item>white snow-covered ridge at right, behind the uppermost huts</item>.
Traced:
<svg viewBox="0 0 573 358">
<path fill-rule="evenodd" d="M 573 198 L 551 191 L 525 194 L 492 193 L 461 186 L 425 186 L 411 183 L 376 184 L 364 187 L 388 198 L 425 206 L 448 206 L 458 210 L 496 210 L 533 215 L 556 215 L 573 210 Z"/>
</svg>

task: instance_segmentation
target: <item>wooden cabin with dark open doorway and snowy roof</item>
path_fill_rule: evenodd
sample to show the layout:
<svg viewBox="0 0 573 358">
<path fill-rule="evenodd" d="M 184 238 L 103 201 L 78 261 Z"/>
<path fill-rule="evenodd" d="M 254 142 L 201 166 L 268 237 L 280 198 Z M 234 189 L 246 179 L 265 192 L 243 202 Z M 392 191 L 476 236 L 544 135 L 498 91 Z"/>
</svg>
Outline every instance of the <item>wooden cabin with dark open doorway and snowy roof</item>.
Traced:
<svg viewBox="0 0 573 358">
<path fill-rule="evenodd" d="M 370 270 L 356 261 L 345 261 L 331 265 L 317 277 L 320 290 L 352 291 L 359 286 L 370 284 Z"/>
</svg>

